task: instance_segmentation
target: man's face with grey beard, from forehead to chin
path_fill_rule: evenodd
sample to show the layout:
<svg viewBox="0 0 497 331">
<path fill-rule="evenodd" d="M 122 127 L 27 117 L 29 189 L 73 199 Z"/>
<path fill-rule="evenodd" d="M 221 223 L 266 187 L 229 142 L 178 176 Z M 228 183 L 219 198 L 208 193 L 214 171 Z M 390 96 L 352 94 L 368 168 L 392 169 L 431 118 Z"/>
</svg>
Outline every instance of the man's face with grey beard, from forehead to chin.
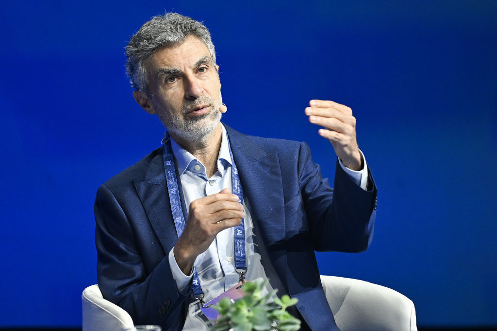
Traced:
<svg viewBox="0 0 497 331">
<path fill-rule="evenodd" d="M 221 119 L 221 83 L 205 44 L 194 36 L 148 62 L 152 102 L 175 140 L 202 141 Z"/>
</svg>

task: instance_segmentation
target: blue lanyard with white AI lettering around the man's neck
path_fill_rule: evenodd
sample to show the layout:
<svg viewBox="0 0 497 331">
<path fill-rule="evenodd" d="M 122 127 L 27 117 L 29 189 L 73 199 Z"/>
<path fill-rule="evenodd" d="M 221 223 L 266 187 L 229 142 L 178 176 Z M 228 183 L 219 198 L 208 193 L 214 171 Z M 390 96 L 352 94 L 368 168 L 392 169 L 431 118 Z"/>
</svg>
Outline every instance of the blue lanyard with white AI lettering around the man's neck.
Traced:
<svg viewBox="0 0 497 331">
<path fill-rule="evenodd" d="M 169 140 L 169 133 L 166 132 L 164 136 L 164 170 L 166 172 L 166 183 L 167 191 L 169 192 L 169 203 L 171 205 L 172 218 L 174 220 L 174 226 L 176 228 L 176 234 L 181 237 L 185 229 L 185 219 L 183 216 L 183 211 L 181 208 L 181 198 L 179 196 L 178 182 L 176 178 L 176 168 L 174 165 L 174 157 L 172 155 L 171 142 Z M 243 191 L 242 185 L 240 183 L 240 176 L 238 175 L 237 165 L 233 160 L 233 153 L 231 152 L 230 142 L 228 141 L 228 148 L 230 150 L 230 157 L 232 163 L 232 184 L 233 184 L 233 194 L 238 196 L 238 202 L 243 205 Z M 242 223 L 235 227 L 235 268 L 241 269 L 243 271 L 237 271 L 240 274 L 240 281 L 244 281 L 244 274 L 247 272 L 247 263 L 245 256 L 245 226 L 244 219 Z M 199 299 L 203 305 L 204 292 L 200 286 L 200 279 L 198 278 L 197 268 L 194 267 L 193 271 L 193 281 L 192 281 L 193 295 L 195 298 Z"/>
</svg>

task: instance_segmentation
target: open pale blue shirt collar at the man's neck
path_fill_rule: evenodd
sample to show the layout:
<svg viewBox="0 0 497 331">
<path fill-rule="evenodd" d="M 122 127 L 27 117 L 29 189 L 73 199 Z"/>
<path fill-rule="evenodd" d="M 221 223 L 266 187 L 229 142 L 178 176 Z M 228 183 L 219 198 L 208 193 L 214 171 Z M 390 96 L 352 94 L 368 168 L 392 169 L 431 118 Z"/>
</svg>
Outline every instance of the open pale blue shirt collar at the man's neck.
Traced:
<svg viewBox="0 0 497 331">
<path fill-rule="evenodd" d="M 223 123 L 221 123 L 221 129 L 223 130 L 223 133 L 221 138 L 221 148 L 219 149 L 217 165 L 218 165 L 218 170 L 221 172 L 222 176 L 225 166 L 228 164 L 229 165 L 232 164 L 231 164 L 230 149 L 228 146 L 228 134 L 226 133 L 226 128 L 224 127 Z M 174 141 L 174 139 L 171 138 L 170 140 L 171 140 L 172 154 L 176 162 L 176 167 L 178 169 L 179 176 L 185 173 L 185 171 L 190 166 L 194 166 L 195 164 L 202 165 L 200 161 L 198 161 L 193 155 L 191 155 L 190 152 L 179 146 L 178 143 Z M 204 172 L 205 172 L 205 167 L 204 167 Z"/>
</svg>

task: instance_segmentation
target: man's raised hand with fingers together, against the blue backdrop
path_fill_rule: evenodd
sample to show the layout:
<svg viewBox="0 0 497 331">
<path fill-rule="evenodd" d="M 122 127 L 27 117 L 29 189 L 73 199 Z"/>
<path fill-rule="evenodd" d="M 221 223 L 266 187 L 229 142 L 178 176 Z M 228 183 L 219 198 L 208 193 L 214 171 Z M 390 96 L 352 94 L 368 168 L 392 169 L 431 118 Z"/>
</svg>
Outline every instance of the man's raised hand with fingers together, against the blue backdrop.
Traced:
<svg viewBox="0 0 497 331">
<path fill-rule="evenodd" d="M 306 107 L 309 122 L 325 127 L 319 130 L 319 134 L 330 140 L 343 165 L 361 170 L 364 165 L 357 145 L 352 109 L 328 100 L 311 100 L 309 105 Z"/>
</svg>

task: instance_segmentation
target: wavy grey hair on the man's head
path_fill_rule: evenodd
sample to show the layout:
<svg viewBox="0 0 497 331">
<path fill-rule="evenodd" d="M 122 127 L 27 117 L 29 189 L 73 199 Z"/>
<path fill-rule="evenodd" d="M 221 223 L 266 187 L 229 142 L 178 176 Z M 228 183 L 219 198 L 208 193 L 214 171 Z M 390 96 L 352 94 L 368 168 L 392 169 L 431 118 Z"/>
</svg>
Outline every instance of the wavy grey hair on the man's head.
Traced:
<svg viewBox="0 0 497 331">
<path fill-rule="evenodd" d="M 178 13 L 168 12 L 157 15 L 142 25 L 126 46 L 126 74 L 131 86 L 139 91 L 149 92 L 146 62 L 159 49 L 181 43 L 193 35 L 207 46 L 214 63 L 216 51 L 209 30 L 201 23 Z"/>
</svg>

